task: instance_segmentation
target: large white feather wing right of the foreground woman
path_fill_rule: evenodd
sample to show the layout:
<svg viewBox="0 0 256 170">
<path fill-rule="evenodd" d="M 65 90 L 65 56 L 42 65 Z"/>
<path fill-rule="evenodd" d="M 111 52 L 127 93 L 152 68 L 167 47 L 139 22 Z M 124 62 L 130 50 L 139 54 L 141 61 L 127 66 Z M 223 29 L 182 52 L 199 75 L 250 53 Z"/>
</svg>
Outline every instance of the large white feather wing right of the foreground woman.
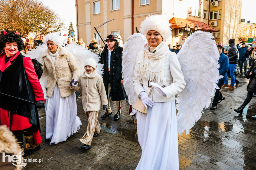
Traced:
<svg viewBox="0 0 256 170">
<path fill-rule="evenodd" d="M 200 119 L 203 108 L 209 107 L 218 88 L 219 52 L 214 37 L 209 32 L 191 34 L 178 53 L 178 60 L 186 86 L 176 98 L 178 134 L 186 134 Z"/>
</svg>

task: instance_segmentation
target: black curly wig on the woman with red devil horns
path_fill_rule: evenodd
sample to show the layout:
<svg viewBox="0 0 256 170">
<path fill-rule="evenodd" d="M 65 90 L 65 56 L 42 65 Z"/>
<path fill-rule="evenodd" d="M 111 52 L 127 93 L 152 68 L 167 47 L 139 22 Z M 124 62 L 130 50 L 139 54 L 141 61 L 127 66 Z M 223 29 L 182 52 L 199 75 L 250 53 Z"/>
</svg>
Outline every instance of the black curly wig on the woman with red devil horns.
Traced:
<svg viewBox="0 0 256 170">
<path fill-rule="evenodd" d="M 15 34 L 14 31 L 6 30 L 7 34 L 4 35 L 4 31 L 1 31 L 0 33 L 0 49 L 3 49 L 5 47 L 6 42 L 16 42 L 18 44 L 18 50 L 21 51 L 24 49 L 24 43 L 22 39 L 20 38 L 20 35 Z"/>
</svg>

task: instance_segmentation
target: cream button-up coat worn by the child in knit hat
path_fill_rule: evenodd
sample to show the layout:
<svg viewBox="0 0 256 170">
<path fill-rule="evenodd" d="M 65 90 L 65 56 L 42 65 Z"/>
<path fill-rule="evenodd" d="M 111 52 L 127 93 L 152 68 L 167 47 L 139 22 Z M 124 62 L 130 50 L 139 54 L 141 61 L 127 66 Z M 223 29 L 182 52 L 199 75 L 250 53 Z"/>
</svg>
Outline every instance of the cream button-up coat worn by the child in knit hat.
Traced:
<svg viewBox="0 0 256 170">
<path fill-rule="evenodd" d="M 82 91 L 83 109 L 85 112 L 99 111 L 100 104 L 108 105 L 108 99 L 100 75 L 93 71 L 88 78 L 85 72 L 81 74 L 78 86 L 70 87 L 76 91 Z"/>
</svg>

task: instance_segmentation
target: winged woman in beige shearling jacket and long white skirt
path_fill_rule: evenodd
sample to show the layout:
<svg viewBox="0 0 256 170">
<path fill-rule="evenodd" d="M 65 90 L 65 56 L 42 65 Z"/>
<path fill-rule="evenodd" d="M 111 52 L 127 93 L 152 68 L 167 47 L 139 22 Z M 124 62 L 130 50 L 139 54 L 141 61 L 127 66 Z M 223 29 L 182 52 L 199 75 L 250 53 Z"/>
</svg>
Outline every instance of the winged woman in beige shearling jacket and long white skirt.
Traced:
<svg viewBox="0 0 256 170">
<path fill-rule="evenodd" d="M 47 34 L 44 44 L 28 51 L 26 57 L 36 58 L 43 68 L 39 82 L 46 99 L 45 141 L 51 141 L 50 144 L 65 141 L 82 125 L 70 82 L 79 81 L 88 58 L 96 61 L 96 72 L 102 75 L 103 65 L 98 63 L 100 58 L 75 42 L 63 47 L 61 37 L 56 33 Z"/>
</svg>

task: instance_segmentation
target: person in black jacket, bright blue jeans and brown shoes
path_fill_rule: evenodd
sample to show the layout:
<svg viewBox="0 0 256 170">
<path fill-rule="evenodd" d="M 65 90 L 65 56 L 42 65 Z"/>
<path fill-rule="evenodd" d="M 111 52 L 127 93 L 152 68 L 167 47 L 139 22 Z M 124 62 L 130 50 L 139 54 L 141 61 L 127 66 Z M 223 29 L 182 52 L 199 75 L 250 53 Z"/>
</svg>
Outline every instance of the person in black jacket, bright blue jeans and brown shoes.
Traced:
<svg viewBox="0 0 256 170">
<path fill-rule="evenodd" d="M 231 83 L 230 86 L 228 85 L 228 76 L 226 76 L 226 80 L 224 81 L 224 84 L 221 88 L 227 87 L 227 89 L 234 89 L 235 85 L 235 69 L 237 65 L 237 58 L 238 58 L 238 49 L 235 46 L 235 39 L 230 39 L 228 41 L 230 48 L 228 49 L 228 60 L 229 60 L 229 72 L 230 72 L 230 78 L 231 78 Z M 236 86 L 240 81 L 236 83 Z"/>
</svg>

